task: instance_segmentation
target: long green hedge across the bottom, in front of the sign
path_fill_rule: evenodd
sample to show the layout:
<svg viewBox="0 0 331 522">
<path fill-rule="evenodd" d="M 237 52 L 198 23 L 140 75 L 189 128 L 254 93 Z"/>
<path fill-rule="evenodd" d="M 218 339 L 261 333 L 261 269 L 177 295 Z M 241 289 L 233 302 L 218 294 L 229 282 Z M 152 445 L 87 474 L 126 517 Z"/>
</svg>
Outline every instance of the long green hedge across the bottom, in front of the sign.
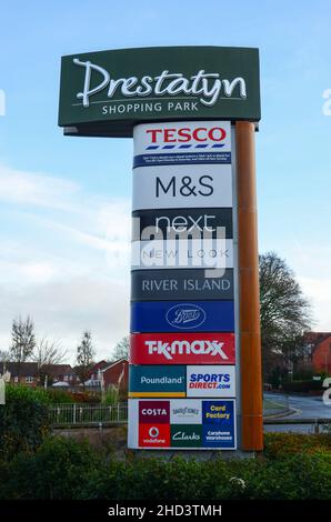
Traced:
<svg viewBox="0 0 331 522">
<path fill-rule="evenodd" d="M 0 499 L 330 500 L 330 449 L 321 450 L 323 444 L 313 439 L 310 453 L 280 455 L 274 451 L 275 439 L 267 443 L 265 456 L 257 459 L 165 461 L 131 453 L 116 460 L 87 442 L 50 438 L 34 453 L 0 464 Z M 293 441 L 291 444 L 293 448 Z M 304 448 L 302 441 L 300 444 Z M 298 448 L 300 444 L 297 441 Z"/>
</svg>

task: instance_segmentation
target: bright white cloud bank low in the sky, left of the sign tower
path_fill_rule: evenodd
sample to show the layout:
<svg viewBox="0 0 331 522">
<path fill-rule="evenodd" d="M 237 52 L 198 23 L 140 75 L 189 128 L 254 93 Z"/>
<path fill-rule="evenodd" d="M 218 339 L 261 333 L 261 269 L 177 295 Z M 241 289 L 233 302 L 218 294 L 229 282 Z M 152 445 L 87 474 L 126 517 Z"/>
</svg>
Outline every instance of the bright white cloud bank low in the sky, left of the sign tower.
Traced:
<svg viewBox="0 0 331 522">
<path fill-rule="evenodd" d="M 0 167 L 0 349 L 12 319 L 71 351 L 84 329 L 110 357 L 129 329 L 130 204 L 61 178 Z"/>
</svg>

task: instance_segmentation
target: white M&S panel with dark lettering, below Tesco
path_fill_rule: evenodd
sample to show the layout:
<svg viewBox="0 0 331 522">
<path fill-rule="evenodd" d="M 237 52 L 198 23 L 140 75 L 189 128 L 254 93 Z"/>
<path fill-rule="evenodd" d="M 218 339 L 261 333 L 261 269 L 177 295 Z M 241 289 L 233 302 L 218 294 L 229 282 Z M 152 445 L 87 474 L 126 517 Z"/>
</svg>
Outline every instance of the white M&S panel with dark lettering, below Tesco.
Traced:
<svg viewBox="0 0 331 522">
<path fill-rule="evenodd" d="M 133 210 L 232 207 L 230 164 L 133 169 Z"/>
</svg>

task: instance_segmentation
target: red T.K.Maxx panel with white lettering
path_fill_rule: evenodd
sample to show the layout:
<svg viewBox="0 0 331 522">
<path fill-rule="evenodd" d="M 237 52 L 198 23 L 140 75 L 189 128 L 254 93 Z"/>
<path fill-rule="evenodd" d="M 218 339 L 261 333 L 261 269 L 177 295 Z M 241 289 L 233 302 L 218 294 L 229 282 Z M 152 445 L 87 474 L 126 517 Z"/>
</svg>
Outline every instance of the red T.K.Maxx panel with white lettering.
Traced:
<svg viewBox="0 0 331 522">
<path fill-rule="evenodd" d="M 131 364 L 234 364 L 234 333 L 133 333 Z"/>
</svg>

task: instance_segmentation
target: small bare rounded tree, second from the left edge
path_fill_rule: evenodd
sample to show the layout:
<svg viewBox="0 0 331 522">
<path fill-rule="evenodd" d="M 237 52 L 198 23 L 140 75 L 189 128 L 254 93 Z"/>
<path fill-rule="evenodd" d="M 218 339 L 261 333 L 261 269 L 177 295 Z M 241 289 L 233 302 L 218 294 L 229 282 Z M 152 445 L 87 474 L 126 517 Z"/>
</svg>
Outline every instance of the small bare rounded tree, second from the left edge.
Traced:
<svg viewBox="0 0 331 522">
<path fill-rule="evenodd" d="M 50 367 L 60 364 L 66 355 L 67 351 L 62 350 L 54 340 L 42 338 L 36 343 L 32 360 L 38 364 L 38 374 L 42 383 L 44 383 L 46 378 L 48 378 L 48 381 L 52 379 Z"/>
</svg>

